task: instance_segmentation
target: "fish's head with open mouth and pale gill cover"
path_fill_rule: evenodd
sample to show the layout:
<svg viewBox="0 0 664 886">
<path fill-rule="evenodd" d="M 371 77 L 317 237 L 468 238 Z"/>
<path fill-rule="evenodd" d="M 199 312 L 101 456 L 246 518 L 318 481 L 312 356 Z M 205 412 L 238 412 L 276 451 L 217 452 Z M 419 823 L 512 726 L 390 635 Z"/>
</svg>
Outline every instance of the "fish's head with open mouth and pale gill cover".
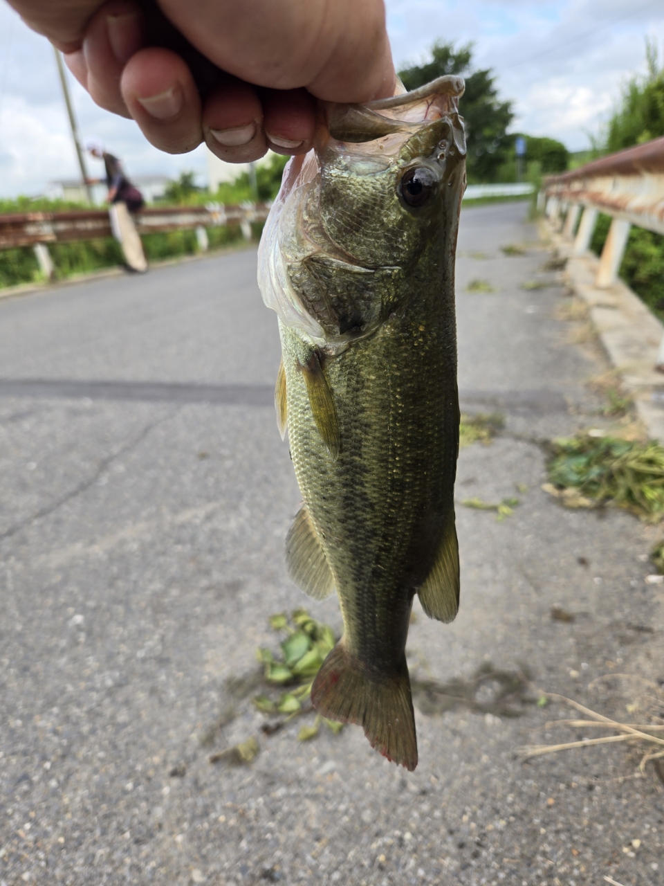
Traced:
<svg viewBox="0 0 664 886">
<path fill-rule="evenodd" d="M 462 93 L 463 80 L 445 76 L 367 105 L 319 103 L 313 150 L 286 167 L 259 247 L 266 306 L 308 346 L 340 353 L 403 298 L 437 220 L 433 207 L 406 205 L 401 175 L 423 158 L 431 186 L 452 183 L 449 161 L 466 153 Z"/>
</svg>

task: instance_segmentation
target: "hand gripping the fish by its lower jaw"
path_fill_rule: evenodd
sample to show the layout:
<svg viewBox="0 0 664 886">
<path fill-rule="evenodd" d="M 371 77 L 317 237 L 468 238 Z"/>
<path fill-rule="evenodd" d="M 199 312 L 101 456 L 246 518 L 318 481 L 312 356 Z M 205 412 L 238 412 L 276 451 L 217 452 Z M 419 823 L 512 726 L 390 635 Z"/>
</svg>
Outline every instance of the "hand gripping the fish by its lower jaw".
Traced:
<svg viewBox="0 0 664 886">
<path fill-rule="evenodd" d="M 168 153 L 202 141 L 237 163 L 267 148 L 305 153 L 314 98 L 363 102 L 394 89 L 382 0 L 159 0 L 224 72 L 204 98 L 181 54 L 151 45 L 144 0 L 9 2 L 63 51 L 97 105 L 134 118 Z"/>
</svg>

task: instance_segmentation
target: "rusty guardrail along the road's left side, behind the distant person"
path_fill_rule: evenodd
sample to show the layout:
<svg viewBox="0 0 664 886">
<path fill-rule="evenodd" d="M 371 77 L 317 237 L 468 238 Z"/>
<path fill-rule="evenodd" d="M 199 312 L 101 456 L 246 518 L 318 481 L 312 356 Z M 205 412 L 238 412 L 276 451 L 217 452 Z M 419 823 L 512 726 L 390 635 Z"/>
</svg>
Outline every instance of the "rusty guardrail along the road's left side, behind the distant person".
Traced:
<svg viewBox="0 0 664 886">
<path fill-rule="evenodd" d="M 265 221 L 269 206 L 264 203 L 246 203 L 241 206 L 149 206 L 130 216 L 118 214 L 118 206 L 110 209 L 72 209 L 63 212 L 30 212 L 0 214 L 0 250 L 32 246 L 42 272 L 53 274 L 49 245 L 92 240 L 96 237 L 116 237 L 125 251 L 127 264 L 144 270 L 140 241 L 135 235 L 162 233 L 170 230 L 195 229 L 198 247 L 208 248 L 207 228 L 239 225 L 245 239 L 251 239 L 251 222 Z M 133 235 L 133 237 L 132 237 Z M 131 246 L 129 245 L 131 242 Z M 142 260 L 143 259 L 143 260 Z"/>
</svg>

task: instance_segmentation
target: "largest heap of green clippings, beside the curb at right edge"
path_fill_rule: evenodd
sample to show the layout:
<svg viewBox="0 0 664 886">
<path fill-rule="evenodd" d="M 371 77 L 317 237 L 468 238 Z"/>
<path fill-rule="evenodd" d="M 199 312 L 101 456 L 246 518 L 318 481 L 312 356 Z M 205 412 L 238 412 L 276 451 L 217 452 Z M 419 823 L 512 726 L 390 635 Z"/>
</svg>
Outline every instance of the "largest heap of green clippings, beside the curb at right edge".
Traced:
<svg viewBox="0 0 664 886">
<path fill-rule="evenodd" d="M 658 523 L 664 517 L 664 447 L 596 434 L 553 441 L 544 492 L 568 508 L 610 504 Z"/>
</svg>

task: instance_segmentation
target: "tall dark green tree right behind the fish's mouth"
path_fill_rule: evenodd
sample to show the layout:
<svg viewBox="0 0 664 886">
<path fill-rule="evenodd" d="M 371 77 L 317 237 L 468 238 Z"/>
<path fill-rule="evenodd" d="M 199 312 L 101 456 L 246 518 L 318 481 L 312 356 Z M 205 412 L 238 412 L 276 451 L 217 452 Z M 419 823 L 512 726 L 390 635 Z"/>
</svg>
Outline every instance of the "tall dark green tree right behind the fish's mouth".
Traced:
<svg viewBox="0 0 664 886">
<path fill-rule="evenodd" d="M 498 98 L 496 77 L 490 69 L 474 71 L 472 43 L 456 49 L 453 43 L 434 43 L 431 60 L 399 72 L 406 89 L 417 89 L 444 74 L 462 74 L 466 92 L 459 112 L 466 120 L 468 180 L 489 182 L 507 159 L 510 141 L 506 129 L 513 120 L 512 102 Z"/>
</svg>

